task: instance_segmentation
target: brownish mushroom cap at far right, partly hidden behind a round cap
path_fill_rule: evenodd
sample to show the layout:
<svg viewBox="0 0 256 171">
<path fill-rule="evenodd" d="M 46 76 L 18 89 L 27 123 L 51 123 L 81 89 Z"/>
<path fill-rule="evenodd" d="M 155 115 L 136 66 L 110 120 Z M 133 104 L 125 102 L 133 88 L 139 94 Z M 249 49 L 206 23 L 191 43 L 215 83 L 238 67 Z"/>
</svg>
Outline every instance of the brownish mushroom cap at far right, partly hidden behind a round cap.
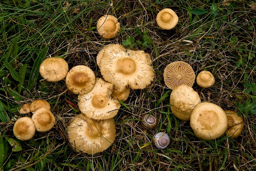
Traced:
<svg viewBox="0 0 256 171">
<path fill-rule="evenodd" d="M 225 110 L 225 113 L 228 117 L 228 131 L 226 134 L 229 136 L 231 135 L 231 138 L 238 137 L 244 129 L 244 119 L 243 117 L 239 117 L 236 112 L 231 110 Z"/>
</svg>

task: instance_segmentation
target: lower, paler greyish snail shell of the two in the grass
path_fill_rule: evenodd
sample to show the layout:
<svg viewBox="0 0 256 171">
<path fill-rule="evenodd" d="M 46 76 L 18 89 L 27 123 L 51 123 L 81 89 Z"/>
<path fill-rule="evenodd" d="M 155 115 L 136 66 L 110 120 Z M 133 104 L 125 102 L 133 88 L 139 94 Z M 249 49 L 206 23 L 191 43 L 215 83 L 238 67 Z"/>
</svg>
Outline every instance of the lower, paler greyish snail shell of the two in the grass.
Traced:
<svg viewBox="0 0 256 171">
<path fill-rule="evenodd" d="M 167 133 L 164 133 L 164 132 L 158 132 L 154 136 L 153 140 L 154 140 L 155 146 L 158 149 L 166 148 L 171 142 L 171 139 L 170 139 L 169 135 Z"/>
</svg>

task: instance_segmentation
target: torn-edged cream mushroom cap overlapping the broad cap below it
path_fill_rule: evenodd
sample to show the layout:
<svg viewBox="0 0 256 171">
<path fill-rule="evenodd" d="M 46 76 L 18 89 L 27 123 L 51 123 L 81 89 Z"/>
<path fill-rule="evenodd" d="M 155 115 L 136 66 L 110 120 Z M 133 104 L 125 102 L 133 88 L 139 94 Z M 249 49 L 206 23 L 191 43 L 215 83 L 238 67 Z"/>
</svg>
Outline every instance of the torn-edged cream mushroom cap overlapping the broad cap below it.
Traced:
<svg viewBox="0 0 256 171">
<path fill-rule="evenodd" d="M 113 84 L 96 78 L 93 89 L 86 94 L 78 95 L 78 106 L 81 112 L 92 119 L 109 119 L 116 116 L 120 103 L 111 99 Z"/>
</svg>

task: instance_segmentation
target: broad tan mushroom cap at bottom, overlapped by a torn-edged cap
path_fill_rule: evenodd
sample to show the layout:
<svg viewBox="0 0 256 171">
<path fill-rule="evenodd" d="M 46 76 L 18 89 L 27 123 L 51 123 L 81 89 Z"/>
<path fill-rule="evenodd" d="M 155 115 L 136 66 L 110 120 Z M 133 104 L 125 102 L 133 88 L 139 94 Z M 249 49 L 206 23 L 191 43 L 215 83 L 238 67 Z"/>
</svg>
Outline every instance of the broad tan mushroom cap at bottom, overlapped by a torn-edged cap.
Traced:
<svg viewBox="0 0 256 171">
<path fill-rule="evenodd" d="M 73 149 L 83 153 L 102 152 L 111 146 L 116 138 L 114 118 L 96 121 L 79 114 L 71 119 L 67 129 Z"/>
</svg>

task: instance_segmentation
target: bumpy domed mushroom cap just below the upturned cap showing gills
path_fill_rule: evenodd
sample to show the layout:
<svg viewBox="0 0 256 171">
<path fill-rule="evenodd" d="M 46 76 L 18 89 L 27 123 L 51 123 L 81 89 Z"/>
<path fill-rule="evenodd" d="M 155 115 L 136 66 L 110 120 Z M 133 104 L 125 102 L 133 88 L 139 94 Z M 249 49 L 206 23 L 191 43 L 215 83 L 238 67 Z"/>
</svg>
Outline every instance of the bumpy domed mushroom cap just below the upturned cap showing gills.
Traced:
<svg viewBox="0 0 256 171">
<path fill-rule="evenodd" d="M 170 95 L 170 107 L 173 115 L 183 121 L 188 121 L 190 115 L 201 99 L 192 87 L 182 84 L 175 87 Z"/>
</svg>

